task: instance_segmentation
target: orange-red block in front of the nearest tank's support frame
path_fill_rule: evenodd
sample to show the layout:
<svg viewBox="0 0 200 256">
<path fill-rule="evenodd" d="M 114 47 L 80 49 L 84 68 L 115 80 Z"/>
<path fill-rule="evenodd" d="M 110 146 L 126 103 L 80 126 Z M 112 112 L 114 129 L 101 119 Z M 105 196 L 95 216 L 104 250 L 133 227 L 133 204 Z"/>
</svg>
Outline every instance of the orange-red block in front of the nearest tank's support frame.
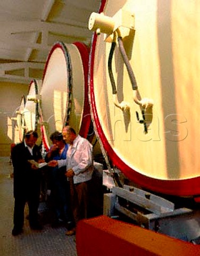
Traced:
<svg viewBox="0 0 200 256">
<path fill-rule="evenodd" d="M 106 216 L 77 226 L 78 256 L 196 256 L 200 246 L 180 241 Z"/>
</svg>

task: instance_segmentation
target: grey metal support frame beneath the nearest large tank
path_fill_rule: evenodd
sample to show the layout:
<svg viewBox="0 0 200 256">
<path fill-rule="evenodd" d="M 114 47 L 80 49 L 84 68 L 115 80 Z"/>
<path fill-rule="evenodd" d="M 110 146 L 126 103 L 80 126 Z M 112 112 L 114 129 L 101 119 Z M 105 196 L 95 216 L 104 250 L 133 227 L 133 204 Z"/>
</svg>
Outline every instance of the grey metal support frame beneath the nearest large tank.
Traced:
<svg viewBox="0 0 200 256">
<path fill-rule="evenodd" d="M 121 213 L 140 227 L 194 244 L 200 242 L 198 211 L 175 209 L 174 203 L 136 187 L 107 188 L 112 193 L 104 194 L 104 215 L 119 218 Z"/>
</svg>

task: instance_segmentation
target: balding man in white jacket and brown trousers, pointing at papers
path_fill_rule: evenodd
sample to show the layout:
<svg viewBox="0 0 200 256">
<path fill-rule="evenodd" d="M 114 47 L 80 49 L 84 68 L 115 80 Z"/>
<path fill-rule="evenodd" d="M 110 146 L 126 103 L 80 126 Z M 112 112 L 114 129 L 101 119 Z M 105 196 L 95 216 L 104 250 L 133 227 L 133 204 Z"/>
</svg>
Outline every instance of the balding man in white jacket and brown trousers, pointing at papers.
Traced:
<svg viewBox="0 0 200 256">
<path fill-rule="evenodd" d="M 65 126 L 62 134 L 65 142 L 69 143 L 66 160 L 51 161 L 49 165 L 66 165 L 65 176 L 71 181 L 73 179 L 70 193 L 75 227 L 66 232 L 66 235 L 73 235 L 77 222 L 87 218 L 88 185 L 93 174 L 93 146 L 70 126 Z"/>
</svg>

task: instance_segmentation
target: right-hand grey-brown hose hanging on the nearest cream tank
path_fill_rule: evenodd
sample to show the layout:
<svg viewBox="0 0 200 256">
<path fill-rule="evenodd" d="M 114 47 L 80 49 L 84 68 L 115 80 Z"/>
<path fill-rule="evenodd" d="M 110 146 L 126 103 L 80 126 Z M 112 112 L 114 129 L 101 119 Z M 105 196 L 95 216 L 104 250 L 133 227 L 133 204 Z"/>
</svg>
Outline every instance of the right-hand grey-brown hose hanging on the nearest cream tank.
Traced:
<svg viewBox="0 0 200 256">
<path fill-rule="evenodd" d="M 138 86 L 137 86 L 136 78 L 135 78 L 135 75 L 134 75 L 134 71 L 132 71 L 132 68 L 130 66 L 130 63 L 129 63 L 129 60 L 128 60 L 128 57 L 127 57 L 127 53 L 126 53 L 126 51 L 124 49 L 124 46 L 123 46 L 123 41 L 122 41 L 121 36 L 118 37 L 118 44 L 119 44 L 119 49 L 120 49 L 120 53 L 122 55 L 123 61 L 126 65 L 126 67 L 127 67 L 127 71 L 128 71 L 128 74 L 129 74 L 131 85 L 132 85 L 132 90 L 137 90 Z"/>
</svg>

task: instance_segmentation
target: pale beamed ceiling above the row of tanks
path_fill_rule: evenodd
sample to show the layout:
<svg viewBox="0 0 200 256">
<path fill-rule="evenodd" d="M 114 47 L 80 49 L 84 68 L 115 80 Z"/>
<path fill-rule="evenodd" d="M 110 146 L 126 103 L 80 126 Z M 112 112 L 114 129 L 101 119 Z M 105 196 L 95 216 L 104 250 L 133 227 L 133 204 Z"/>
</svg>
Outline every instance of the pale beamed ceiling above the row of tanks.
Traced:
<svg viewBox="0 0 200 256">
<path fill-rule="evenodd" d="M 100 5 L 101 0 L 0 0 L 0 82 L 41 78 L 57 41 L 89 45 L 88 20 Z"/>
</svg>

